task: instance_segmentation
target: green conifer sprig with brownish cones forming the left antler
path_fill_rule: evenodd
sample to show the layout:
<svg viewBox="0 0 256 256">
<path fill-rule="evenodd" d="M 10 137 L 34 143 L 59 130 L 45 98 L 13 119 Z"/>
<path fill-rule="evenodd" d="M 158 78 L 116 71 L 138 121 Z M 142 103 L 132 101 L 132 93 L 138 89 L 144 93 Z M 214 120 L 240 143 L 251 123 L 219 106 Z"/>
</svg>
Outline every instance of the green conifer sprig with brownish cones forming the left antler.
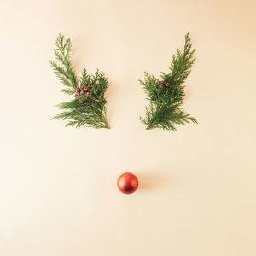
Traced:
<svg viewBox="0 0 256 256">
<path fill-rule="evenodd" d="M 98 69 L 96 73 L 90 74 L 83 68 L 80 78 L 77 77 L 72 67 L 70 53 L 72 49 L 71 40 L 64 42 L 60 34 L 56 38 L 55 61 L 49 61 L 50 66 L 61 83 L 67 86 L 61 91 L 67 95 L 73 95 L 70 102 L 57 105 L 63 110 L 52 119 L 67 120 L 66 126 L 87 125 L 93 128 L 110 128 L 107 121 L 107 103 L 105 92 L 108 90 L 108 79 Z"/>
</svg>

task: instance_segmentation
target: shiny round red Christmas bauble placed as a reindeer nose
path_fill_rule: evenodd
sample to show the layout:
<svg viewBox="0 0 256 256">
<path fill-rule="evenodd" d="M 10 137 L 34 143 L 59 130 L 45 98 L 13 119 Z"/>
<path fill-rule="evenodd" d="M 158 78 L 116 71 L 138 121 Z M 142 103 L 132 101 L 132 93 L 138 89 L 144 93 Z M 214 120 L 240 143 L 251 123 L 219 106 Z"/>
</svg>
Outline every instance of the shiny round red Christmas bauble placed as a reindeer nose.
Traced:
<svg viewBox="0 0 256 256">
<path fill-rule="evenodd" d="M 117 184 L 121 192 L 131 194 L 137 189 L 138 180 L 131 172 L 125 172 L 119 176 Z"/>
</svg>

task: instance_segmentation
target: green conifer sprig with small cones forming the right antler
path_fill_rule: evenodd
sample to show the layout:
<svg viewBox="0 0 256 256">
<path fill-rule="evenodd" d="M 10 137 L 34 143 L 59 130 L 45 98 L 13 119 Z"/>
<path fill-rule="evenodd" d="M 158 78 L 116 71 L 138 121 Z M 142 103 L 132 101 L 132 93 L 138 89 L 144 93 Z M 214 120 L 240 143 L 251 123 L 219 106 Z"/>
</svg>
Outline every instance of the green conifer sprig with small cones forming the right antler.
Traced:
<svg viewBox="0 0 256 256">
<path fill-rule="evenodd" d="M 196 119 L 184 112 L 184 83 L 195 62 L 195 49 L 192 49 L 189 33 L 185 35 L 183 53 L 177 49 L 177 55 L 172 55 L 170 73 L 161 73 L 160 79 L 144 73 L 143 85 L 149 105 L 145 108 L 145 117 L 141 122 L 147 125 L 147 130 L 160 128 L 176 131 L 176 125 L 197 123 Z"/>
</svg>

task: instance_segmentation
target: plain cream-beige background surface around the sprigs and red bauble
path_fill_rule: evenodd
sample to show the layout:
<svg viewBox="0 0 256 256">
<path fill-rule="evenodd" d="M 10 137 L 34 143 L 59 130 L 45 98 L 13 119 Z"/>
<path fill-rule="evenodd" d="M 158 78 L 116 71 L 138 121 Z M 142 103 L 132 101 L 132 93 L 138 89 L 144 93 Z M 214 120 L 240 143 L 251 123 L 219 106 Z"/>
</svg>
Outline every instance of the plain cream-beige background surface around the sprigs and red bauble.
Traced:
<svg viewBox="0 0 256 256">
<path fill-rule="evenodd" d="M 1 26 L 1 256 L 255 256 L 255 1 L 10 1 Z M 49 67 L 108 76 L 111 130 L 49 121 L 69 97 Z M 199 125 L 146 131 L 143 71 L 190 32 L 185 107 Z M 122 172 L 140 187 L 123 195 Z"/>
</svg>

